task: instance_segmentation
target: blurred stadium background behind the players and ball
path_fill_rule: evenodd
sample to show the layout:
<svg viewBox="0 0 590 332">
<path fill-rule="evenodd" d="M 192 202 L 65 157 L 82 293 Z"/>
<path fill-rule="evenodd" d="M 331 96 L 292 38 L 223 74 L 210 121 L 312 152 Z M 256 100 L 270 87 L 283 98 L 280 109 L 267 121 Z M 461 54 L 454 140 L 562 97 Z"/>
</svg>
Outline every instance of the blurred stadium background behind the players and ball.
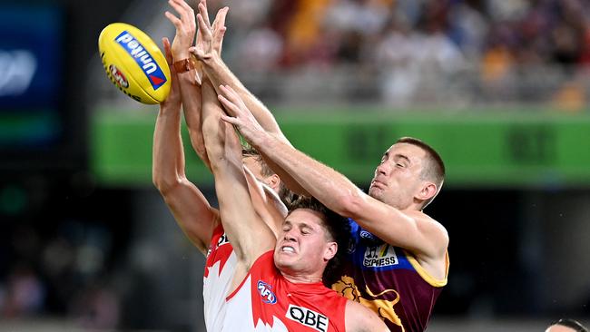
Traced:
<svg viewBox="0 0 590 332">
<path fill-rule="evenodd" d="M 428 212 L 451 268 L 430 331 L 590 323 L 589 0 L 209 2 L 231 7 L 226 62 L 300 150 L 361 188 L 399 136 L 441 152 Z M 0 4 L 0 330 L 204 330 L 203 258 L 151 183 L 157 106 L 97 54 L 112 22 L 172 39 L 166 9 Z"/>
</svg>

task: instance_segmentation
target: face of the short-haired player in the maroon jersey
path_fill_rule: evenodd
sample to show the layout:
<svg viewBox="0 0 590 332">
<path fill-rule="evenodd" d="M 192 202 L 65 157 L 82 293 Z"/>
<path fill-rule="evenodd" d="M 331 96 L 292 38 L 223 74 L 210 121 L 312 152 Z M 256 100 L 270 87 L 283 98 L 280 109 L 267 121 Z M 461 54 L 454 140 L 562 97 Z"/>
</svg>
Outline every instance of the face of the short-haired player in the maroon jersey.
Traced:
<svg viewBox="0 0 590 332">
<path fill-rule="evenodd" d="M 369 195 L 399 210 L 407 209 L 422 189 L 421 173 L 427 152 L 408 143 L 385 151 L 370 183 Z"/>
</svg>

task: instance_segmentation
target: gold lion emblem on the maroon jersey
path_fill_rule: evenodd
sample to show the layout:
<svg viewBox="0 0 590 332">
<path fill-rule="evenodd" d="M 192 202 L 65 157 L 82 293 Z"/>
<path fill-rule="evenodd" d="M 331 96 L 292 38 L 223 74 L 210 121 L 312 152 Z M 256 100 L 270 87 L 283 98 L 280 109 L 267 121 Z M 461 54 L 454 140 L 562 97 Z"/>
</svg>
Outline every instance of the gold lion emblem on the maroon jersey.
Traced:
<svg viewBox="0 0 590 332">
<path fill-rule="evenodd" d="M 332 285 L 332 289 L 336 290 L 344 298 L 349 298 L 370 308 L 375 311 L 381 319 L 388 319 L 390 322 L 401 327 L 402 331 L 404 330 L 404 327 L 401 326 L 401 320 L 393 308 L 393 306 L 399 302 L 399 293 L 395 289 L 385 289 L 379 294 L 373 294 L 369 287 L 366 286 L 365 291 L 369 297 L 375 299 L 361 298 L 359 288 L 355 284 L 354 278 L 350 278 L 349 276 L 342 276 L 339 281 Z M 388 301 L 387 299 L 377 299 L 381 295 L 389 292 L 396 294 L 396 298 L 392 301 Z"/>
</svg>

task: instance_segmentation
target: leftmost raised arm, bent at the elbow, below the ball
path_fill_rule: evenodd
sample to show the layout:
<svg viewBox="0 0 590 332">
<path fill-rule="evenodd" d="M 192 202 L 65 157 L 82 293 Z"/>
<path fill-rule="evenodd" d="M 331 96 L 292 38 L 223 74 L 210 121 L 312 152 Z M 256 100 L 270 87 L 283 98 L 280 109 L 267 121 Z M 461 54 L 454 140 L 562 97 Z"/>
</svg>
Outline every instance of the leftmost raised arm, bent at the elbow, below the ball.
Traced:
<svg viewBox="0 0 590 332">
<path fill-rule="evenodd" d="M 160 104 L 153 132 L 152 181 L 160 190 L 168 208 L 192 243 L 206 253 L 212 230 L 219 220 L 218 211 L 211 208 L 184 173 L 184 152 L 181 138 L 181 92 L 178 76 L 172 66 L 172 52 L 167 38 L 162 40 L 166 60 L 170 65 L 172 89 Z"/>
</svg>

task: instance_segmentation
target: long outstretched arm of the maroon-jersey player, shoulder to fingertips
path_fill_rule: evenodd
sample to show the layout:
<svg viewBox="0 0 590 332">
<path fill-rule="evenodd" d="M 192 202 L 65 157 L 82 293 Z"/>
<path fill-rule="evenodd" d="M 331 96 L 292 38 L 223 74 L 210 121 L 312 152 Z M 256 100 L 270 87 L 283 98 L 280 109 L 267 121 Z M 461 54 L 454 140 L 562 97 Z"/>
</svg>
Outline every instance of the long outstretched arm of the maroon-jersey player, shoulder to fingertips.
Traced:
<svg viewBox="0 0 590 332">
<path fill-rule="evenodd" d="M 221 87 L 221 103 L 246 141 L 266 153 L 280 168 L 330 210 L 353 218 L 380 239 L 420 255 L 423 261 L 444 259 L 447 232 L 420 211 L 401 211 L 375 200 L 344 175 L 266 132 L 230 86 Z"/>
</svg>

